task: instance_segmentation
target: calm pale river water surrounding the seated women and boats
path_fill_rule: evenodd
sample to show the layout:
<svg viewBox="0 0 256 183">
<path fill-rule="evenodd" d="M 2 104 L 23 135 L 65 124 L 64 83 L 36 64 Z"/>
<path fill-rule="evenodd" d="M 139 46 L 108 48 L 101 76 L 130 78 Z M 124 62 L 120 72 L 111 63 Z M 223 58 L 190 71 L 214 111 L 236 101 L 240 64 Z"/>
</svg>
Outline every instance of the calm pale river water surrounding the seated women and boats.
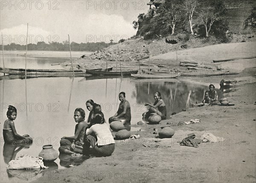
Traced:
<svg viewBox="0 0 256 183">
<path fill-rule="evenodd" d="M 79 57 L 81 53 L 77 53 Z M 84 53 L 83 53 L 84 54 Z M 62 63 L 69 60 L 67 57 L 28 57 L 27 68 L 59 69 L 61 66 L 51 66 L 52 63 Z M 29 56 L 29 55 L 28 55 Z M 1 66 L 2 66 L 1 62 Z M 15 52 L 5 55 L 5 66 L 21 68 L 24 66 L 24 56 Z M 23 67 L 24 68 L 24 67 Z M 15 128 L 21 135 L 29 134 L 33 137 L 32 146 L 4 147 L 1 133 L 0 169 L 1 182 L 28 182 L 49 175 L 50 170 L 64 169 L 72 165 L 79 165 L 83 160 L 70 160 L 66 157 L 58 158 L 44 173 L 35 174 L 33 170 L 7 171 L 6 165 L 12 158 L 20 154 L 38 156 L 43 145 L 52 144 L 58 151 L 59 140 L 63 136 L 73 136 L 75 121 L 73 113 L 76 108 L 83 108 L 88 117 L 89 112 L 85 103 L 88 99 L 102 106 L 105 119 L 113 116 L 118 109 L 119 92 L 126 93 L 126 100 L 131 105 L 131 124 L 142 120 L 142 113 L 146 110 L 144 103 L 154 103 L 154 92 L 159 91 L 166 103 L 167 119 L 172 112 L 180 112 L 189 106 L 190 102 L 200 102 L 204 97 L 207 86 L 183 82 L 178 79 L 137 80 L 126 78 L 95 78 L 95 77 L 37 77 L 16 78 L 0 77 L 0 131 L 3 131 L 3 122 L 7 119 L 8 105 L 17 108 Z M 218 90 L 217 90 L 218 91 Z M 220 94 L 220 91 L 218 91 Z M 137 131 L 132 128 L 131 131 Z M 16 149 L 16 150 L 15 150 Z M 48 174 L 47 174 L 48 172 Z M 58 173 L 58 172 L 57 172 Z M 56 174 L 57 175 L 57 174 Z"/>
</svg>

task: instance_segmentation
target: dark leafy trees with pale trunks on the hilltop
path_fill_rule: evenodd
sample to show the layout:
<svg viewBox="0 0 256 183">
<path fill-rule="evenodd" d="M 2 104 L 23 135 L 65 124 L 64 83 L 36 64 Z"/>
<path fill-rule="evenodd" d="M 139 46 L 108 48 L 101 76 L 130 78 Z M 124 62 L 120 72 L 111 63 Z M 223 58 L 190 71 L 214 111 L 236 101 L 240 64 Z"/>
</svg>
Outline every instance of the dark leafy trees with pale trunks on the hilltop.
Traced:
<svg viewBox="0 0 256 183">
<path fill-rule="evenodd" d="M 246 20 L 245 28 L 255 30 L 255 9 Z M 198 0 L 165 0 L 157 9 L 153 8 L 147 14 L 140 14 L 133 25 L 134 29 L 138 29 L 137 36 L 144 36 L 145 39 L 185 31 L 204 37 L 213 34 L 225 40 L 229 30 L 226 17 L 227 8 L 224 0 L 200 3 Z"/>
</svg>

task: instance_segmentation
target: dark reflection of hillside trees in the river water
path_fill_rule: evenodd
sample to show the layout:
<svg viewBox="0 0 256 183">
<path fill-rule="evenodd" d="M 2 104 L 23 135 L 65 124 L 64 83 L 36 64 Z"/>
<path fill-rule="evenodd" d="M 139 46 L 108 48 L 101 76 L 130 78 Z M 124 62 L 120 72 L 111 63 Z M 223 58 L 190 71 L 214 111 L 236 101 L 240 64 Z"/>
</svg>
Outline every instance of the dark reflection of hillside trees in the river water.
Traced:
<svg viewBox="0 0 256 183">
<path fill-rule="evenodd" d="M 159 91 L 166 104 L 167 116 L 172 112 L 180 112 L 188 107 L 191 102 L 201 102 L 204 92 L 208 90 L 205 86 L 180 83 L 180 82 L 138 82 L 135 83 L 136 91 L 133 97 L 136 97 L 137 103 L 154 103 L 154 92 Z"/>
</svg>

